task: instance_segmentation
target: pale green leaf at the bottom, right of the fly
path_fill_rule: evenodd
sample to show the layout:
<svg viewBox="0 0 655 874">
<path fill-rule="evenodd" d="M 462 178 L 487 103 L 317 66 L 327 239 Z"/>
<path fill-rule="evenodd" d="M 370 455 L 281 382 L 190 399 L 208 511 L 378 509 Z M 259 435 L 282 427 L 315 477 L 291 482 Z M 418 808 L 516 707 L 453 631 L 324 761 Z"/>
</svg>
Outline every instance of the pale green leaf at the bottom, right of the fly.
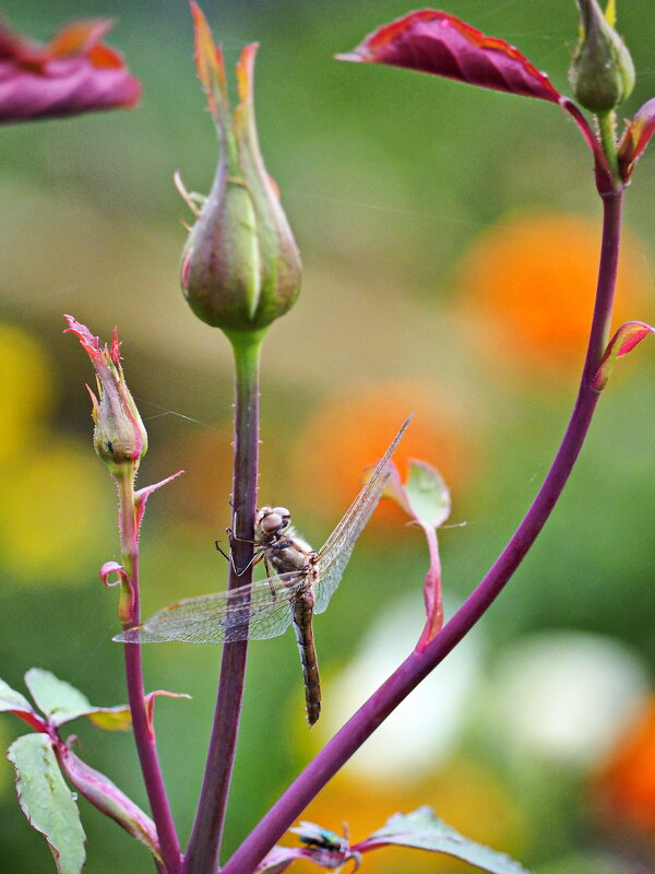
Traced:
<svg viewBox="0 0 655 874">
<path fill-rule="evenodd" d="M 383 828 L 362 841 L 358 849 L 365 851 L 385 845 L 446 853 L 491 874 L 527 874 L 526 870 L 509 855 L 476 843 L 446 826 L 430 807 L 419 807 L 408 814 L 394 814 Z"/>
</svg>

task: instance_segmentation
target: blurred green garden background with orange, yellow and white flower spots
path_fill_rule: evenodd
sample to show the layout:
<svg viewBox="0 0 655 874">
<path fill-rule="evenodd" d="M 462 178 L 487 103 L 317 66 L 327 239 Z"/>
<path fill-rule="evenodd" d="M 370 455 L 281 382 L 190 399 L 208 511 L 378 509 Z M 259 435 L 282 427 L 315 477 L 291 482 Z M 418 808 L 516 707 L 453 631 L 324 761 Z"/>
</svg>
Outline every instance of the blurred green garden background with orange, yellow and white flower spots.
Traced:
<svg viewBox="0 0 655 874">
<path fill-rule="evenodd" d="M 591 311 L 599 203 L 577 130 L 545 102 L 333 60 L 412 7 L 398 0 L 249 0 L 204 10 L 231 69 L 261 44 L 262 150 L 305 262 L 295 309 L 266 340 L 262 503 L 291 507 L 320 544 L 406 414 L 407 454 L 440 468 L 455 524 L 441 535 L 448 613 L 526 510 L 565 426 Z M 448 11 L 515 44 L 567 92 L 573 0 L 452 0 Z M 0 273 L 1 675 L 38 665 L 94 704 L 124 700 L 116 598 L 97 568 L 118 558 L 112 486 L 91 444 L 85 354 L 71 312 L 123 341 L 150 434 L 141 484 L 157 493 L 142 534 L 144 610 L 221 589 L 229 522 L 231 373 L 219 332 L 178 286 L 190 221 L 172 185 L 207 191 L 215 137 L 179 0 L 10 0 L 8 22 L 46 39 L 61 23 L 116 16 L 107 42 L 143 83 L 135 111 L 2 130 Z M 655 85 L 652 0 L 619 4 L 638 68 L 632 115 Z M 653 321 L 653 155 L 627 201 L 619 318 Z M 620 321 L 617 321 L 617 324 Z M 464 834 L 539 874 L 655 871 L 655 488 L 653 350 L 617 368 L 553 519 L 476 633 L 321 794 L 305 818 L 361 839 L 429 803 Z M 254 643 L 226 851 L 412 648 L 426 551 L 381 507 L 317 622 L 324 716 L 308 733 L 290 635 Z M 219 651 L 145 654 L 176 819 L 188 834 Z M 379 675 L 379 676 L 378 676 Z M 79 753 L 145 804 L 128 735 L 85 724 Z M 3 717 L 11 742 L 21 725 Z M 0 764 L 2 869 L 53 870 Z M 145 851 L 81 801 L 91 874 Z M 373 853 L 371 872 L 464 872 L 429 854 Z M 298 866 L 301 870 L 302 865 Z M 306 865 L 309 870 L 309 865 Z"/>
</svg>

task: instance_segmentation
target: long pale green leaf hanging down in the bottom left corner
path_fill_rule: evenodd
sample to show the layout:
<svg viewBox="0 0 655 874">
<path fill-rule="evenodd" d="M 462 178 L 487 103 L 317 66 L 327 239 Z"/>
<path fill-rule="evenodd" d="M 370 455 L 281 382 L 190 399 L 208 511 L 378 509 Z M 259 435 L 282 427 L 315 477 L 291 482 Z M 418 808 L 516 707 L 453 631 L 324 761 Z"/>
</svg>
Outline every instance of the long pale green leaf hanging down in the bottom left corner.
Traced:
<svg viewBox="0 0 655 874">
<path fill-rule="evenodd" d="M 48 841 L 59 874 L 79 874 L 84 865 L 86 837 L 52 742 L 47 734 L 25 734 L 13 742 L 7 757 L 16 770 L 21 810 Z"/>
</svg>

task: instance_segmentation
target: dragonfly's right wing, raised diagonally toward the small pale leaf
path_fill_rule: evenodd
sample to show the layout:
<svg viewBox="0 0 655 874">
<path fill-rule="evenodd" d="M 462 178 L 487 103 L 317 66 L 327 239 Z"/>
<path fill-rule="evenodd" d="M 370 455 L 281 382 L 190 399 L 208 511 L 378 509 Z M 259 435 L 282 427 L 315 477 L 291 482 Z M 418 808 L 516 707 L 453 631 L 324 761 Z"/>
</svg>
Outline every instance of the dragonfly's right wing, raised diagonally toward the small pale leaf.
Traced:
<svg viewBox="0 0 655 874">
<path fill-rule="evenodd" d="M 359 494 L 350 504 L 341 521 L 319 550 L 318 582 L 314 586 L 314 613 L 323 613 L 330 599 L 334 594 L 346 565 L 350 559 L 357 538 L 364 531 L 366 523 L 384 491 L 389 479 L 389 461 L 396 450 L 401 437 L 412 421 L 409 416 L 393 438 L 391 446 L 382 456 L 374 471 L 361 487 Z"/>
</svg>

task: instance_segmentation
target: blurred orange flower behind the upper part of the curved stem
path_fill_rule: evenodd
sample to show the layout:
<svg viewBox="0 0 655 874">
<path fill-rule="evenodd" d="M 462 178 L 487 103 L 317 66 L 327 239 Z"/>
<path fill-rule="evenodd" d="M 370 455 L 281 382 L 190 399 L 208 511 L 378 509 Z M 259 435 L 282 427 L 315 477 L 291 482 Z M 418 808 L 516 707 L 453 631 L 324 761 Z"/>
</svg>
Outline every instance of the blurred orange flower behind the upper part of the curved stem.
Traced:
<svg viewBox="0 0 655 874">
<path fill-rule="evenodd" d="M 590 331 L 600 222 L 520 213 L 476 240 L 456 271 L 467 317 L 488 356 L 515 369 L 577 374 Z M 640 319 L 650 285 L 634 239 L 623 237 L 614 324 Z M 523 368 L 522 368 L 523 369 Z"/>
</svg>

